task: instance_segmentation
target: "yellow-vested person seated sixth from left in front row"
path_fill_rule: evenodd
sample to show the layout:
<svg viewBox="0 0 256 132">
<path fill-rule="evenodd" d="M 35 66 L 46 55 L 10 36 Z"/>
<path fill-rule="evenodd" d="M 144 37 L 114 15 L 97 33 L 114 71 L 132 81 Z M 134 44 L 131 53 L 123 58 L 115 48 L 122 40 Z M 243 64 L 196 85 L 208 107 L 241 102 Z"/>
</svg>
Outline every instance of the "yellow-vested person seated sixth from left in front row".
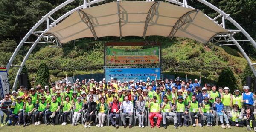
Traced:
<svg viewBox="0 0 256 132">
<path fill-rule="evenodd" d="M 63 100 L 65 99 L 65 100 Z M 61 125 L 67 125 L 67 117 L 70 115 L 70 110 L 72 109 L 72 103 L 70 101 L 69 96 L 66 96 L 65 98 L 61 98 L 61 106 L 62 109 L 62 124 Z"/>
</svg>

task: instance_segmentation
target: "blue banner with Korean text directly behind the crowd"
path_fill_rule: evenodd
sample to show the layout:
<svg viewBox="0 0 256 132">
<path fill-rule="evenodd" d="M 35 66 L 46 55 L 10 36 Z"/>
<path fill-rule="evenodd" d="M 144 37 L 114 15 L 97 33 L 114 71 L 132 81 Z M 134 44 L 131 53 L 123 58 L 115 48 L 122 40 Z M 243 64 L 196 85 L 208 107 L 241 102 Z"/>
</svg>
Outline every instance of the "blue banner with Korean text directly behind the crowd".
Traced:
<svg viewBox="0 0 256 132">
<path fill-rule="evenodd" d="M 160 68 L 106 68 L 105 77 L 106 80 L 111 80 L 111 77 L 117 78 L 117 80 L 124 81 L 146 81 L 149 77 L 154 80 L 161 75 Z"/>
</svg>

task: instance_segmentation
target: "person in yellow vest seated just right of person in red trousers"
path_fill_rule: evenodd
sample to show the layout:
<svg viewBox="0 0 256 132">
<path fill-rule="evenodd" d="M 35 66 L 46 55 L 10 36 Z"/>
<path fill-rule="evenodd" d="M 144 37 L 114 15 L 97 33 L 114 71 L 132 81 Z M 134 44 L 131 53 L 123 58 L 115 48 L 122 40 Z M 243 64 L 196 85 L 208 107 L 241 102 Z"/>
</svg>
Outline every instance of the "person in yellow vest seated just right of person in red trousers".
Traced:
<svg viewBox="0 0 256 132">
<path fill-rule="evenodd" d="M 163 102 L 161 103 L 161 109 L 162 109 L 162 116 L 163 116 L 163 126 L 166 129 L 166 116 L 172 116 L 174 121 L 174 128 L 178 128 L 177 124 L 177 114 L 172 112 L 174 109 L 174 106 L 172 106 L 172 103 L 168 100 L 168 97 L 166 95 L 163 96 Z"/>
</svg>

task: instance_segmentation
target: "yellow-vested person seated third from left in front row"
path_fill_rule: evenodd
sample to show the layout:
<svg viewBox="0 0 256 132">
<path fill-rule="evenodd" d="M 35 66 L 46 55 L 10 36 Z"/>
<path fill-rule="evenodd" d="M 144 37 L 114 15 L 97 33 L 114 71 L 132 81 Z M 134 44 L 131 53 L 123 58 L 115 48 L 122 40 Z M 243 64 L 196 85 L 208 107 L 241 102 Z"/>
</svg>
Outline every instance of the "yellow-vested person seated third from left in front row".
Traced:
<svg viewBox="0 0 256 132">
<path fill-rule="evenodd" d="M 31 117 L 32 117 L 33 112 L 35 110 L 35 103 L 32 102 L 32 98 L 28 97 L 26 100 L 27 100 L 27 103 L 25 104 L 26 109 L 25 109 L 25 113 L 24 113 L 24 125 L 23 125 L 23 127 L 29 125 Z"/>
</svg>

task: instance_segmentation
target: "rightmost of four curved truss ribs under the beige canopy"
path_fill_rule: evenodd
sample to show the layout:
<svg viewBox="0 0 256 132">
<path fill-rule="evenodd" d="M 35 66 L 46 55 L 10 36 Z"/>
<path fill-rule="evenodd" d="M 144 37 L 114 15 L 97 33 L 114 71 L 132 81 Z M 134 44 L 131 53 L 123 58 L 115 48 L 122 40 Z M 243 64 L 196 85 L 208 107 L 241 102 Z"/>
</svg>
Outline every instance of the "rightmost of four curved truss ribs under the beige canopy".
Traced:
<svg viewBox="0 0 256 132">
<path fill-rule="evenodd" d="M 179 20 L 177 20 L 177 22 L 175 23 L 175 25 L 172 28 L 172 31 L 169 34 L 169 38 L 173 38 L 174 35 L 176 34 L 176 32 L 184 25 L 186 25 L 187 23 L 192 23 L 196 17 L 196 15 L 198 14 L 198 9 L 192 10 L 192 11 L 188 11 L 187 13 L 183 14 L 183 16 L 180 17 Z M 190 16 L 190 14 L 195 13 L 195 16 L 192 18 Z"/>
</svg>

